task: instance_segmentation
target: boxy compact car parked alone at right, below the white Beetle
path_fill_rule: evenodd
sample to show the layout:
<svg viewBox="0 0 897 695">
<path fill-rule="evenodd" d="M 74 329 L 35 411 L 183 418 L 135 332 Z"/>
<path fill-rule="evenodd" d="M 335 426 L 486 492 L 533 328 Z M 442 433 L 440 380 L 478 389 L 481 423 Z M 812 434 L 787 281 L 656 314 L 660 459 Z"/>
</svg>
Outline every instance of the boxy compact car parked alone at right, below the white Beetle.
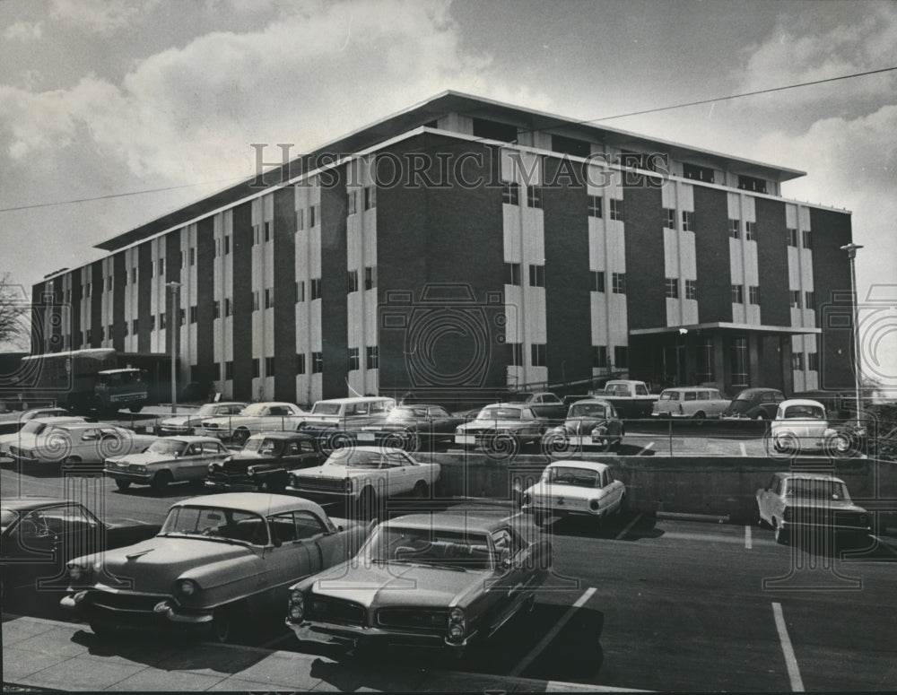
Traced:
<svg viewBox="0 0 897 695">
<path fill-rule="evenodd" d="M 850 500 L 847 485 L 833 475 L 773 473 L 757 491 L 757 509 L 760 520 L 772 526 L 776 543 L 823 529 L 861 538 L 871 532 L 869 513 Z"/>
</svg>

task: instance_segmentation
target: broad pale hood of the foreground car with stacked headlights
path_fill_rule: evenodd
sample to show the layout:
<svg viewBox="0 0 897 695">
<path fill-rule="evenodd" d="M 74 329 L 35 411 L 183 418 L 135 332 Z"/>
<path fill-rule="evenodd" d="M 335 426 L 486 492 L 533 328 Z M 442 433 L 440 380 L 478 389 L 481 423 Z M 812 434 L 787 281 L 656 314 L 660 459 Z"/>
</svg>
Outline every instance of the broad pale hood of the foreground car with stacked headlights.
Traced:
<svg viewBox="0 0 897 695">
<path fill-rule="evenodd" d="M 492 576 L 485 570 L 442 569 L 423 564 L 336 565 L 316 578 L 311 590 L 319 596 L 354 601 L 365 608 L 414 605 L 448 608 L 466 595 L 483 590 Z"/>
</svg>

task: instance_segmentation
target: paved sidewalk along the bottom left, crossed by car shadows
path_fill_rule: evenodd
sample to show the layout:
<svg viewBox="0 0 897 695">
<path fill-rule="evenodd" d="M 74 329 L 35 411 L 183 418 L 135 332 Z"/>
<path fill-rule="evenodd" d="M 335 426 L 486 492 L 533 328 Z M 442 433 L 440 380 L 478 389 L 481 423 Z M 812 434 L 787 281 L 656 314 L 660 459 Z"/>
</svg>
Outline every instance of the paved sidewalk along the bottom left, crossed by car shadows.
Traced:
<svg viewBox="0 0 897 695">
<path fill-rule="evenodd" d="M 5 685 L 57 691 L 618 692 L 486 673 L 379 669 L 259 647 L 100 641 L 83 625 L 4 615 Z M 7 690 L 4 687 L 4 690 Z"/>
</svg>

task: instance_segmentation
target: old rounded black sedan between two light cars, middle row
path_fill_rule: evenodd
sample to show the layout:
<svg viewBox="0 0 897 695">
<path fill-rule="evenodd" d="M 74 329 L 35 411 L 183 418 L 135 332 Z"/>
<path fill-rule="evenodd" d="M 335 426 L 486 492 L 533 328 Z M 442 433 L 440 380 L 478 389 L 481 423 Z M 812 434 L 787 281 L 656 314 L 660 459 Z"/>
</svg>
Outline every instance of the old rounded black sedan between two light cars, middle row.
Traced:
<svg viewBox="0 0 897 695">
<path fill-rule="evenodd" d="M 289 471 L 321 465 L 318 438 L 301 432 L 266 432 L 247 439 L 239 453 L 209 464 L 205 487 L 215 491 L 283 491 Z"/>
</svg>

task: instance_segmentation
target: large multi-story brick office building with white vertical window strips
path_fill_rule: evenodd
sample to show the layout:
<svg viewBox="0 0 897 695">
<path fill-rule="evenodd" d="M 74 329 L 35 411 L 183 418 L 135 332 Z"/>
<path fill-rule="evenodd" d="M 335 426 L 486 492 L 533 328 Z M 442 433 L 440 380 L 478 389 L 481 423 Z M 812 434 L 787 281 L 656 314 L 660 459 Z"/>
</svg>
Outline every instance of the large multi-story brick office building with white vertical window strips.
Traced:
<svg viewBox="0 0 897 695">
<path fill-rule="evenodd" d="M 169 352 L 176 329 L 182 380 L 299 403 L 852 384 L 849 326 L 820 318 L 850 306 L 850 215 L 782 198 L 804 172 L 456 92 L 255 147 L 263 175 L 36 285 L 34 352 Z"/>
</svg>

